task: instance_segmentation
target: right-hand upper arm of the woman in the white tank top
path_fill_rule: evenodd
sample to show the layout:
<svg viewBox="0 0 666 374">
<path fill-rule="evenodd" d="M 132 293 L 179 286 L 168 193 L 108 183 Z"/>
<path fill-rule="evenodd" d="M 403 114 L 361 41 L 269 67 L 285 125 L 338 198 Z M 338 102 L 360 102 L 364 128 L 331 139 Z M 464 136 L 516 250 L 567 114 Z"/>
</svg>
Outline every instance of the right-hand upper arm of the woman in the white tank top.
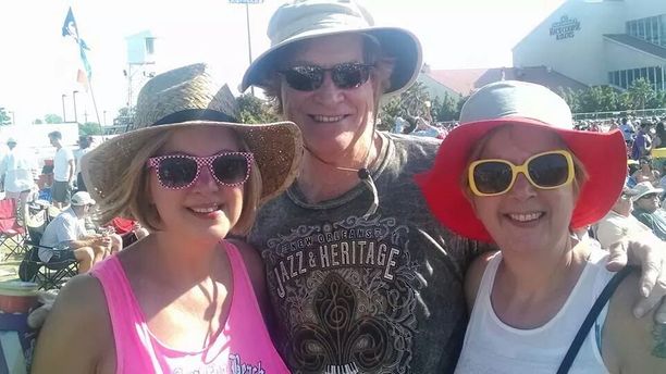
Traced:
<svg viewBox="0 0 666 374">
<path fill-rule="evenodd" d="M 633 272 L 618 286 L 604 324 L 603 357 L 608 369 L 627 373 L 666 373 L 666 326 L 654 322 L 654 312 L 637 319 L 632 308 L 639 297 Z"/>
</svg>

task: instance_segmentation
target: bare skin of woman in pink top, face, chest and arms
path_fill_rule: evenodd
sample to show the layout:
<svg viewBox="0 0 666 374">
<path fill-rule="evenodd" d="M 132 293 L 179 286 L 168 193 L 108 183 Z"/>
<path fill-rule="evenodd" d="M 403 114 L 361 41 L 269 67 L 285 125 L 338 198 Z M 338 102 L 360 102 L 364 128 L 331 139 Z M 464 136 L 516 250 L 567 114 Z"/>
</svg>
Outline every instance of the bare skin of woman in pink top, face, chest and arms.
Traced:
<svg viewBox="0 0 666 374">
<path fill-rule="evenodd" d="M 153 155 L 208 157 L 239 150 L 231 129 L 189 126 L 174 130 Z M 148 183 L 139 195 L 155 205 L 160 220 L 156 230 L 119 252 L 118 259 L 150 334 L 176 350 L 202 349 L 224 328 L 231 310 L 233 272 L 221 240 L 240 217 L 245 185 L 220 185 L 205 167 L 190 187 L 168 189 L 160 185 L 155 170 L 140 172 L 147 173 Z M 245 244 L 234 245 L 252 285 L 262 287 L 261 259 Z M 58 323 L 47 322 L 41 331 L 35 372 L 115 373 L 118 341 L 99 282 L 82 276 L 65 288 L 59 296 L 61 306 L 57 302 L 49 316 Z M 263 288 L 255 292 L 263 306 Z M 85 302 L 82 306 L 77 300 Z M 63 345 L 62 339 L 69 337 L 63 332 L 81 334 L 81 338 Z M 84 335 L 95 339 L 84 339 Z"/>
</svg>

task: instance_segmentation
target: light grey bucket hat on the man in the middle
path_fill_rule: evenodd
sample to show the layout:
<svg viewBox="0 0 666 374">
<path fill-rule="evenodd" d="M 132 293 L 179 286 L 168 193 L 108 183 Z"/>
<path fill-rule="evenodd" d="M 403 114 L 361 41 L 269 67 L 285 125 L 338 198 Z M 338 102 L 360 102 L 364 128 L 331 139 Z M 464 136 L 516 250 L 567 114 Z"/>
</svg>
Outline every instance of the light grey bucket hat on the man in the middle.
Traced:
<svg viewBox="0 0 666 374">
<path fill-rule="evenodd" d="M 266 88 L 274 67 L 275 52 L 296 41 L 345 33 L 375 38 L 383 52 L 395 59 L 391 85 L 385 94 L 408 88 L 418 77 L 422 55 L 419 39 L 399 27 L 374 26 L 368 11 L 354 0 L 293 0 L 280 7 L 268 26 L 271 47 L 245 72 L 240 91 L 249 86 Z"/>
</svg>

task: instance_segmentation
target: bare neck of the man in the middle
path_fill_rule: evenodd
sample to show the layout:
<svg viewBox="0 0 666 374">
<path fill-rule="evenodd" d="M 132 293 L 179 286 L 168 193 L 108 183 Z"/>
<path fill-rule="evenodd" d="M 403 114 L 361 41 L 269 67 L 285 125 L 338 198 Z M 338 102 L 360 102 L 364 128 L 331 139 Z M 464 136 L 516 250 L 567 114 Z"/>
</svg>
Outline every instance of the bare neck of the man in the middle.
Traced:
<svg viewBox="0 0 666 374">
<path fill-rule="evenodd" d="M 341 157 L 335 164 L 306 151 L 297 179 L 306 200 L 312 203 L 331 200 L 353 189 L 359 183 L 358 170 L 370 169 L 379 161 L 382 141 L 381 135 L 374 133 L 371 140 Z"/>
</svg>

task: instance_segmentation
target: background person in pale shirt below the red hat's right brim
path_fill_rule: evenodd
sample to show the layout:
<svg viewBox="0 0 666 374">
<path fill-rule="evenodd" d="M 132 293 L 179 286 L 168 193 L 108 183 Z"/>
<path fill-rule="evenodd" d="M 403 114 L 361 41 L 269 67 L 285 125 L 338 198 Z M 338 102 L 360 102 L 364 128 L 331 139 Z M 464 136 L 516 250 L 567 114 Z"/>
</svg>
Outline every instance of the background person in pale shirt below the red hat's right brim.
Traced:
<svg viewBox="0 0 666 374">
<path fill-rule="evenodd" d="M 639 220 L 631 214 L 633 210 L 631 197 L 634 195 L 636 191 L 625 187 L 619 198 L 617 198 L 615 205 L 613 205 L 613 210 L 594 226 L 596 240 L 599 240 L 602 248 L 609 248 L 615 242 L 630 237 L 650 236 L 658 240 L 654 234 L 652 234 L 650 227 L 639 222 Z"/>
</svg>

